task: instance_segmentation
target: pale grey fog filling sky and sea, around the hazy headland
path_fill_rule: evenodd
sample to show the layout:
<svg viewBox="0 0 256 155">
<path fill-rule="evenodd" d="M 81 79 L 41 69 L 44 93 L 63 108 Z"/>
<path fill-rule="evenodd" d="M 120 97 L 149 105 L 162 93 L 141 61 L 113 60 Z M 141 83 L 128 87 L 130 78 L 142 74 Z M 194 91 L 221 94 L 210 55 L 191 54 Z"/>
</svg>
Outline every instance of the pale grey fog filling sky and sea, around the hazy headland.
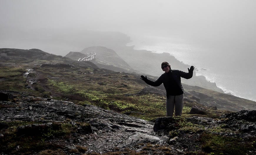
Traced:
<svg viewBox="0 0 256 155">
<path fill-rule="evenodd" d="M 176 52 L 226 92 L 256 101 L 255 7 L 255 0 L 0 0 L 0 48 L 65 56 L 108 41 L 85 31 L 120 32 L 135 48 L 145 41 L 147 50 Z"/>
</svg>

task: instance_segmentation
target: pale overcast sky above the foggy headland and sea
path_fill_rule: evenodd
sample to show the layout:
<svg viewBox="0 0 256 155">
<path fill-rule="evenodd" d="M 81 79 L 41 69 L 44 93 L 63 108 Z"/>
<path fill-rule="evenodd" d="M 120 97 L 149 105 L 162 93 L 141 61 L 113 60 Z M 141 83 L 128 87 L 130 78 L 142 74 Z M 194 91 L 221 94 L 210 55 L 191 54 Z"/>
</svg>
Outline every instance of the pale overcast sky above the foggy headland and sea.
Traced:
<svg viewBox="0 0 256 155">
<path fill-rule="evenodd" d="M 175 35 L 247 46 L 255 42 L 255 8 L 255 0 L 0 0 L 0 28 Z"/>
</svg>

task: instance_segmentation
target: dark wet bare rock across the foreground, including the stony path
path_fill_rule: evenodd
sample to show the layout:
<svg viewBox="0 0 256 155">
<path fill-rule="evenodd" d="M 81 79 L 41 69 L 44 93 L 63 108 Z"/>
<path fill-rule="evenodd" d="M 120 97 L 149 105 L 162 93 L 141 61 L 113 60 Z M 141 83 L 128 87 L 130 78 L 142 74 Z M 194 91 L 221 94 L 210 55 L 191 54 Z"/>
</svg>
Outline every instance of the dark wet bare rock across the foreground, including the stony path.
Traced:
<svg viewBox="0 0 256 155">
<path fill-rule="evenodd" d="M 58 143 L 66 154 L 104 154 L 111 151 L 124 151 L 127 148 L 146 154 L 165 154 L 168 148 L 171 154 L 185 154 L 188 151 L 201 150 L 201 131 L 186 132 L 179 130 L 177 135 L 169 132 L 178 129 L 173 117 L 158 118 L 154 122 L 145 121 L 125 114 L 101 109 L 92 105 L 76 105 L 72 102 L 32 97 L 18 92 L 7 92 L 14 96 L 15 102 L 0 101 L 0 135 L 6 135 L 9 122 L 31 122 L 17 127 L 17 134 L 22 136 L 49 134 L 48 131 L 58 129 L 62 123 L 75 127 L 69 137 L 50 139 Z M 198 124 L 203 129 L 225 126 L 233 133 L 212 132 L 230 137 L 248 139 L 256 136 L 255 110 L 244 110 L 223 115 L 220 119 L 207 117 L 189 117 L 187 122 Z M 80 122 L 80 123 L 79 123 Z M 88 125 L 81 125 L 87 123 Z M 1 139 L 1 138 L 0 138 Z M 86 151 L 70 153 L 77 146 L 86 147 Z M 22 146 L 19 146 L 19 148 Z M 255 150 L 250 150 L 256 154 Z M 1 153 L 2 152 L 2 153 Z M 0 151 L 5 154 L 4 151 Z M 34 152 L 34 154 L 39 154 Z"/>
</svg>

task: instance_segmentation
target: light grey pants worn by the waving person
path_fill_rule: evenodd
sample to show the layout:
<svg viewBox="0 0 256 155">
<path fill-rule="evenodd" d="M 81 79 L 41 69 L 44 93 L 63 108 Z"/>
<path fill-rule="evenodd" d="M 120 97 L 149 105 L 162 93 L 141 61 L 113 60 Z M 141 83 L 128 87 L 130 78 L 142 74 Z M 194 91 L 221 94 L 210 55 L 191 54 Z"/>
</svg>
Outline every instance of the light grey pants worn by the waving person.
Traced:
<svg viewBox="0 0 256 155">
<path fill-rule="evenodd" d="M 175 116 L 181 116 L 182 109 L 183 109 L 183 94 L 182 95 L 176 95 L 172 96 L 169 95 L 168 99 L 166 99 L 166 112 L 167 117 L 173 115 L 174 111 L 174 105 L 175 105 Z"/>
</svg>

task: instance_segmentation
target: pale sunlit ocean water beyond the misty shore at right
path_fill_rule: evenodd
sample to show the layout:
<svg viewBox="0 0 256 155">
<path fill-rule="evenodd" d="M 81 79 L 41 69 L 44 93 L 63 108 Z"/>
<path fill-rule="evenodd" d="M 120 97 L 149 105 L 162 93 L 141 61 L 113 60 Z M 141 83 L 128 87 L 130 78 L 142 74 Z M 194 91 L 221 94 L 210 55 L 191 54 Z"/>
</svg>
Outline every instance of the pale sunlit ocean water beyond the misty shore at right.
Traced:
<svg viewBox="0 0 256 155">
<path fill-rule="evenodd" d="M 251 51 L 208 48 L 170 37 L 131 35 L 131 40 L 127 46 L 135 50 L 170 53 L 184 64 L 195 66 L 196 76 L 205 76 L 225 93 L 256 101 L 256 61 Z"/>
</svg>

